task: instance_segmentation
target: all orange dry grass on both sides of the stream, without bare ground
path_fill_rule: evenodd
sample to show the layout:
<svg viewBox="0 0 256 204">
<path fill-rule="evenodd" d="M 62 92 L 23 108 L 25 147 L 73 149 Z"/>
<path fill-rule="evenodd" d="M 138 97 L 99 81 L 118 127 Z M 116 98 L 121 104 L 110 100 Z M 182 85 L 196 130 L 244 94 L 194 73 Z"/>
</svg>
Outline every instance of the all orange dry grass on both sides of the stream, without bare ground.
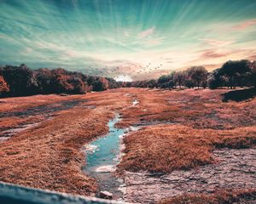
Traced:
<svg viewBox="0 0 256 204">
<path fill-rule="evenodd" d="M 214 148 L 246 148 L 255 144 L 256 99 L 223 103 L 227 90 L 148 90 L 120 88 L 102 93 L 61 97 L 38 95 L 1 99 L 0 113 L 26 111 L 38 105 L 85 99 L 78 107 L 56 111 L 38 127 L 16 134 L 0 144 L 0 180 L 36 188 L 90 195 L 96 182 L 81 171 L 80 148 L 108 132 L 113 112 L 124 117 L 119 127 L 150 122 L 125 138 L 120 170 L 171 172 L 215 162 Z M 132 99 L 140 103 L 132 106 Z M 84 106 L 83 106 L 84 105 Z M 87 109 L 93 105 L 95 109 Z M 0 129 L 38 122 L 42 116 L 2 117 Z"/>
</svg>

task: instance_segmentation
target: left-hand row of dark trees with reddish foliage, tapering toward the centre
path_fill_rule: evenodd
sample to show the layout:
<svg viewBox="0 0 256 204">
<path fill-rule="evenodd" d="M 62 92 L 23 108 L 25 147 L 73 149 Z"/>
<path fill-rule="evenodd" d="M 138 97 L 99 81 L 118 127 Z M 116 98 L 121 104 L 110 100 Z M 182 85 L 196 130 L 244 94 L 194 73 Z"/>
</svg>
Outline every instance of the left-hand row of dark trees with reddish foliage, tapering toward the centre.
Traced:
<svg viewBox="0 0 256 204">
<path fill-rule="evenodd" d="M 120 88 L 122 82 L 108 77 L 87 76 L 76 71 L 47 68 L 32 71 L 26 65 L 0 67 L 0 95 L 26 96 L 33 94 L 85 94 Z"/>
</svg>

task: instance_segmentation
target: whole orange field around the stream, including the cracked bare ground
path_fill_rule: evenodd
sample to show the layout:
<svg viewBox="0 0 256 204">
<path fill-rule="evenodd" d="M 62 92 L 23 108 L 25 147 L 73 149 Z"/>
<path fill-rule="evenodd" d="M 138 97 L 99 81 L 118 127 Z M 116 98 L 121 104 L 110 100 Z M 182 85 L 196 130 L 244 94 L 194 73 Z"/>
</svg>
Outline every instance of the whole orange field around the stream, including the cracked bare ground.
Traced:
<svg viewBox="0 0 256 204">
<path fill-rule="evenodd" d="M 139 127 L 125 135 L 116 171 L 125 201 L 256 199 L 256 99 L 224 102 L 228 92 L 119 88 L 0 99 L 0 180 L 95 195 L 99 184 L 81 169 L 82 149 L 119 113 L 117 127 Z"/>
</svg>

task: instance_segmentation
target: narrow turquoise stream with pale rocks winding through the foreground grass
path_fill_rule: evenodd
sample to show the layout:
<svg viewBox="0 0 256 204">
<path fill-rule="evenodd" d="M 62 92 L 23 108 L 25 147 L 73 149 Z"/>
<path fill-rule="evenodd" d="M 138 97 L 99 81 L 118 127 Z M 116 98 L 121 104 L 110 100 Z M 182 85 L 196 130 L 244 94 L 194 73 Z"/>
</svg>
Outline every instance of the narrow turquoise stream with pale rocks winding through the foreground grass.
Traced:
<svg viewBox="0 0 256 204">
<path fill-rule="evenodd" d="M 85 146 L 87 156 L 84 170 L 96 178 L 100 190 L 113 193 L 113 199 L 122 197 L 122 192 L 119 190 L 122 180 L 113 175 L 119 162 L 121 137 L 126 132 L 126 129 L 114 127 L 119 121 L 119 115 L 116 115 L 108 122 L 109 133 Z"/>
</svg>

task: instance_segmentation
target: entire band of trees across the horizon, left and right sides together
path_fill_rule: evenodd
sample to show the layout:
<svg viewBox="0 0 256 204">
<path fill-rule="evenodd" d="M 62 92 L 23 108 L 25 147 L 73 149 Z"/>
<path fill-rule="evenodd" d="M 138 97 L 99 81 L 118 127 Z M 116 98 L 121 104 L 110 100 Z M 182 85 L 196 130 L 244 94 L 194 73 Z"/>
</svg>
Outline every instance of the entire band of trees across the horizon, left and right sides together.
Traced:
<svg viewBox="0 0 256 204">
<path fill-rule="evenodd" d="M 230 60 L 208 72 L 203 66 L 172 71 L 157 80 L 116 82 L 113 78 L 84 75 L 58 68 L 31 70 L 26 65 L 0 66 L 0 95 L 85 94 L 109 88 L 235 88 L 256 87 L 256 61 Z"/>
</svg>

